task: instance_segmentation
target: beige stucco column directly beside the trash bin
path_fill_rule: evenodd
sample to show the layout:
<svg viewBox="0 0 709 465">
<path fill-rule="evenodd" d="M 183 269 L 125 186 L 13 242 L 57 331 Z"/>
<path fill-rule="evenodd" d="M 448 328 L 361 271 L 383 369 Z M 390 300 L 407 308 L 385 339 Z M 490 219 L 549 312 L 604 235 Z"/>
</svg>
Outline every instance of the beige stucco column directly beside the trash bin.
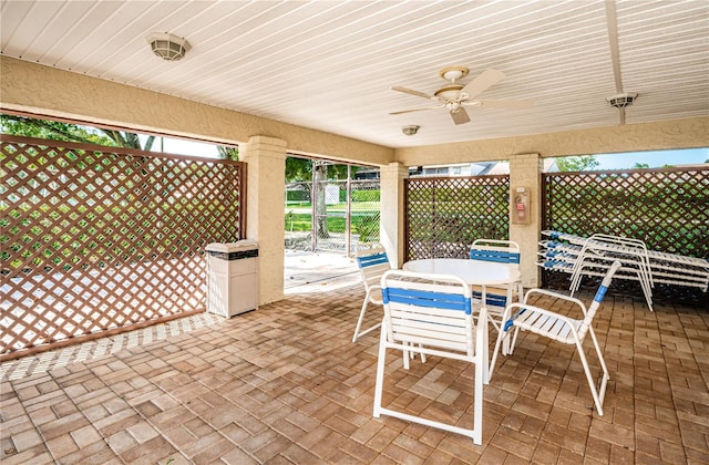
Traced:
<svg viewBox="0 0 709 465">
<path fill-rule="evenodd" d="M 258 241 L 259 304 L 284 298 L 286 142 L 253 136 L 239 146 L 247 163 L 246 237 Z"/>
</svg>

